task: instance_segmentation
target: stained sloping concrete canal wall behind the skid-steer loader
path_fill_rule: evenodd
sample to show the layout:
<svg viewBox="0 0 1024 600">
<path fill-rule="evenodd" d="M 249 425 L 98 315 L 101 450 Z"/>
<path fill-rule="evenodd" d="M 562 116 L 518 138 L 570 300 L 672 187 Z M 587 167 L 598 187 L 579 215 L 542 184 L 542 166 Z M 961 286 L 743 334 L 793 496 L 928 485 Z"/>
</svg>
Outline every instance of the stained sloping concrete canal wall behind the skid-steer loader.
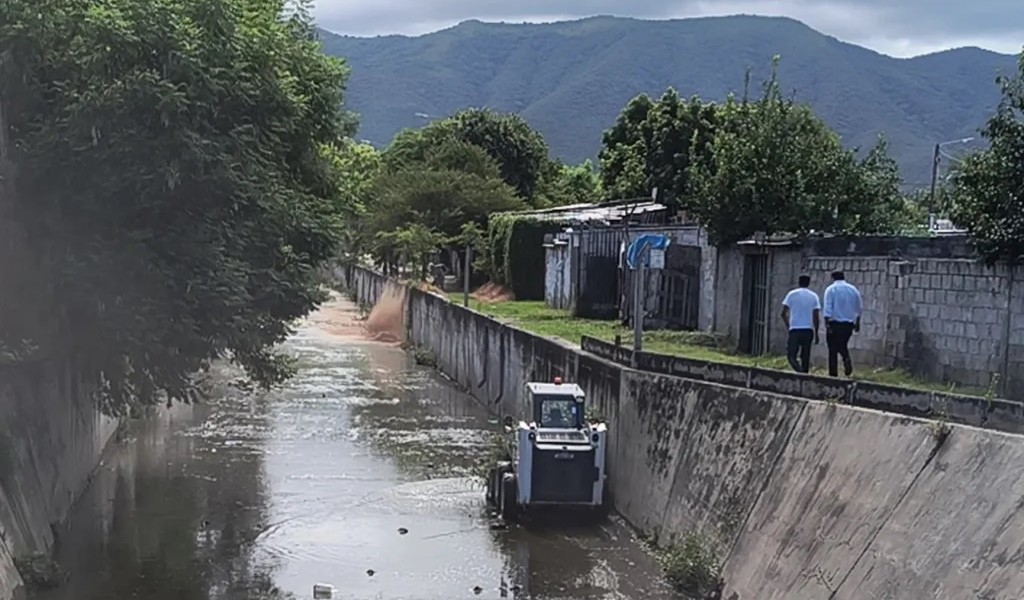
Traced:
<svg viewBox="0 0 1024 600">
<path fill-rule="evenodd" d="M 339 276 L 369 303 L 396 286 Z M 1024 598 L 1022 436 L 637 372 L 406 294 L 411 341 L 496 410 L 531 379 L 583 386 L 615 509 L 662 543 L 717 539 L 726 599 Z"/>
</svg>

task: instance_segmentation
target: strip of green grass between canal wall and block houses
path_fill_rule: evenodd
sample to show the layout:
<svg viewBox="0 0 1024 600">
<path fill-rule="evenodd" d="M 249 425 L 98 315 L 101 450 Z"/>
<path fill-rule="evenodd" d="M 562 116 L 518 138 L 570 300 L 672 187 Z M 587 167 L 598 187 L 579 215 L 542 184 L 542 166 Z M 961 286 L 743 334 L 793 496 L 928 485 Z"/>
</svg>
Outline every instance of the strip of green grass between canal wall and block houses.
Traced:
<svg viewBox="0 0 1024 600">
<path fill-rule="evenodd" d="M 453 293 L 449 299 L 462 304 L 462 294 Z M 575 318 L 565 310 L 551 308 L 542 301 L 514 302 L 480 302 L 470 298 L 470 308 L 493 316 L 520 329 L 545 337 L 561 338 L 566 342 L 579 345 L 583 336 L 589 336 L 611 342 L 615 336 L 622 337 L 626 346 L 633 344 L 633 330 L 623 327 L 617 320 L 596 320 Z M 822 344 L 824 341 L 822 340 Z M 683 356 L 695 360 L 725 362 L 741 367 L 757 367 L 788 371 L 785 356 L 763 355 L 750 356 L 730 351 L 721 337 L 700 332 L 651 331 L 643 334 L 644 349 L 660 354 Z M 826 375 L 827 370 L 820 367 L 811 370 L 812 375 Z M 897 369 L 861 369 L 854 373 L 854 379 L 906 387 L 916 390 L 959 393 L 974 396 L 984 396 L 985 390 L 939 382 L 923 381 L 909 373 Z"/>
</svg>

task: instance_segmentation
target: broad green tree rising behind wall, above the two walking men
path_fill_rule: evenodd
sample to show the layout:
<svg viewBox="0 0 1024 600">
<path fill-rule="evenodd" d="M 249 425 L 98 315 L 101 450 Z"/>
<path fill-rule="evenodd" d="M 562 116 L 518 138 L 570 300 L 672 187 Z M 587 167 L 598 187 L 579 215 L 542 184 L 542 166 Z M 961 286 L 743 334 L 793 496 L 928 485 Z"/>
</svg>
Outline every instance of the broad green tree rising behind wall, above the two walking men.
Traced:
<svg viewBox="0 0 1024 600">
<path fill-rule="evenodd" d="M 711 152 L 691 151 L 684 204 L 717 244 L 757 231 L 894 232 L 906 204 L 886 147 L 858 162 L 810 108 L 781 95 L 773 72 L 760 98 L 716 111 Z"/>
</svg>

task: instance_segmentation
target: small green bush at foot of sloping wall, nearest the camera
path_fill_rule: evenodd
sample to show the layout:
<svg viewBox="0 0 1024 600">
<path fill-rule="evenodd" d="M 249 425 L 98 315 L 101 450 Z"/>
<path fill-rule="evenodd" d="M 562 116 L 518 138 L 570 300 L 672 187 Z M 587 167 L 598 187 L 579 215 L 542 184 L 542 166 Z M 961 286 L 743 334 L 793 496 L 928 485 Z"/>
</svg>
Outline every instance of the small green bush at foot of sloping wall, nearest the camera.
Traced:
<svg viewBox="0 0 1024 600">
<path fill-rule="evenodd" d="M 658 551 L 665 574 L 680 592 L 698 600 L 715 600 L 722 593 L 722 565 L 713 540 L 687 533 Z"/>
</svg>

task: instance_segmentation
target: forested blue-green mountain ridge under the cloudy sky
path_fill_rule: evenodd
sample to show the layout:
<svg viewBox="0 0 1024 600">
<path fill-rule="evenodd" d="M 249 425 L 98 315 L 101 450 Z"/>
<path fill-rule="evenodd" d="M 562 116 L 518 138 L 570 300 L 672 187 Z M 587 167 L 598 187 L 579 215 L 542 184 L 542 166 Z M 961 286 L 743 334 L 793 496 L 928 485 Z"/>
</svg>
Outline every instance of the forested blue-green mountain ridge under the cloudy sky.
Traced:
<svg viewBox="0 0 1024 600">
<path fill-rule="evenodd" d="M 352 68 L 347 99 L 364 139 L 385 144 L 401 128 L 422 126 L 423 115 L 487 106 L 520 113 L 570 162 L 596 157 L 601 133 L 633 96 L 672 86 L 721 100 L 742 92 L 748 69 L 758 85 L 780 55 L 784 90 L 851 147 L 884 132 L 914 186 L 930 180 L 936 142 L 976 135 L 998 102 L 996 76 L 1017 65 L 978 48 L 893 58 L 791 18 L 762 16 L 471 20 L 419 37 L 323 32 L 323 40 Z"/>
</svg>

